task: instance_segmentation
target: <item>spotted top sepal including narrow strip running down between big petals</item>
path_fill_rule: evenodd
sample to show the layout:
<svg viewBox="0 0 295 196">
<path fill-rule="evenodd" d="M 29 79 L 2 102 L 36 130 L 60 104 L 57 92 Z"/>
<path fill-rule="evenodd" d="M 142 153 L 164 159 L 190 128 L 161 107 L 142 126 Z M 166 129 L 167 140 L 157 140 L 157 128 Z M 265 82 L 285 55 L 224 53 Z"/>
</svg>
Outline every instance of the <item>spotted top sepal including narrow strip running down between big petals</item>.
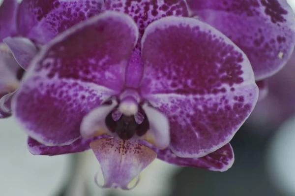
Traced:
<svg viewBox="0 0 295 196">
<path fill-rule="evenodd" d="M 139 28 L 140 38 L 151 22 L 165 16 L 188 16 L 185 0 L 105 0 L 102 10 L 115 10 L 130 15 Z M 126 67 L 125 84 L 138 88 L 143 75 L 141 44 L 134 49 Z"/>
</svg>

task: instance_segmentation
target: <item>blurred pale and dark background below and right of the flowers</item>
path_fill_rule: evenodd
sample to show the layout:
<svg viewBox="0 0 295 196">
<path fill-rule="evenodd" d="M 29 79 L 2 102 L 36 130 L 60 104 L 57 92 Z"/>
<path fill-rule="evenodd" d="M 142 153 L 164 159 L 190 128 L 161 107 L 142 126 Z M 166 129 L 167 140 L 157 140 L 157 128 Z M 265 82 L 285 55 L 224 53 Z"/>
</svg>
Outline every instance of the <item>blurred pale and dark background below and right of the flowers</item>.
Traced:
<svg viewBox="0 0 295 196">
<path fill-rule="evenodd" d="M 289 3 L 295 8 L 295 0 Z M 294 75 L 295 54 L 269 79 L 269 96 L 231 141 L 231 169 L 213 172 L 156 160 L 128 192 L 95 185 L 99 163 L 91 151 L 33 156 L 24 131 L 12 118 L 1 119 L 0 196 L 295 196 Z"/>
</svg>

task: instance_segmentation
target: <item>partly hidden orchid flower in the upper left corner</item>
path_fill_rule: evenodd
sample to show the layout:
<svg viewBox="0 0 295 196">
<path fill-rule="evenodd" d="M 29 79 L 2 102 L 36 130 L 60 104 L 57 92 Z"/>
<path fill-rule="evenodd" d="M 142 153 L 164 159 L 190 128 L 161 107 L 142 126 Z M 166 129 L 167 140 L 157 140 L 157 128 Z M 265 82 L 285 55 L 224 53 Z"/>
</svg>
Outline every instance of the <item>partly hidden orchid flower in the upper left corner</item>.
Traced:
<svg viewBox="0 0 295 196">
<path fill-rule="evenodd" d="M 22 68 L 16 66 L 16 70 L 5 76 L 5 81 L 0 81 L 5 86 L 0 87 L 4 89 L 0 94 L 5 95 L 0 99 L 0 118 L 11 115 L 10 101 L 19 85 L 20 73 L 28 69 L 42 45 L 69 27 L 97 15 L 101 6 L 102 0 L 22 0 L 20 4 L 17 0 L 3 1 L 0 6 L 0 41 L 3 40 L 10 51 L 5 49 L 7 55 L 0 58 L 9 57 L 11 60 L 1 60 L 6 63 L 1 65 L 0 72 L 6 74 L 7 67 L 15 67 L 16 62 Z M 1 45 L 3 48 L 4 44 Z M 13 88 L 5 90 L 7 85 L 11 86 L 8 80 L 15 80 L 17 74 L 19 77 Z"/>
</svg>

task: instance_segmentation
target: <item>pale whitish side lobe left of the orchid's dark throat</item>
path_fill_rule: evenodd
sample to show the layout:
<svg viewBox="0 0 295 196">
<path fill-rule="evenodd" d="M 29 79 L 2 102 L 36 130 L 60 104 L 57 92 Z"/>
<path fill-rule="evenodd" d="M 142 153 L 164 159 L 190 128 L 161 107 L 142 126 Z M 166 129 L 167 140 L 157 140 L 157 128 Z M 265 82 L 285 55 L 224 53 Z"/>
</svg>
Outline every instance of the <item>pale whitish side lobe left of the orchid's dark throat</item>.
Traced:
<svg viewBox="0 0 295 196">
<path fill-rule="evenodd" d="M 112 101 L 112 104 L 100 105 L 89 112 L 89 114 L 83 118 L 81 123 L 80 133 L 82 137 L 91 138 L 102 134 L 112 136 L 112 132 L 109 131 L 108 126 L 106 125 L 106 117 L 117 105 L 117 101 Z"/>
</svg>

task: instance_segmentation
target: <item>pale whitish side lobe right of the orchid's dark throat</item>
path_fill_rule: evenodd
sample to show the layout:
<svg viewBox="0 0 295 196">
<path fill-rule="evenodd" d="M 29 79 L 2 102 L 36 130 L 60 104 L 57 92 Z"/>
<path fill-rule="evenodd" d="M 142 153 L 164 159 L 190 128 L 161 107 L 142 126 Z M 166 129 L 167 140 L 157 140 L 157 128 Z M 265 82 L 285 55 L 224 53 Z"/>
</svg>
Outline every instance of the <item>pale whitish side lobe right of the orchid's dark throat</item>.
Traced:
<svg viewBox="0 0 295 196">
<path fill-rule="evenodd" d="M 170 144 L 169 120 L 164 114 L 148 104 L 143 105 L 142 108 L 148 117 L 149 124 L 149 130 L 144 139 L 160 149 L 167 148 Z"/>
</svg>

